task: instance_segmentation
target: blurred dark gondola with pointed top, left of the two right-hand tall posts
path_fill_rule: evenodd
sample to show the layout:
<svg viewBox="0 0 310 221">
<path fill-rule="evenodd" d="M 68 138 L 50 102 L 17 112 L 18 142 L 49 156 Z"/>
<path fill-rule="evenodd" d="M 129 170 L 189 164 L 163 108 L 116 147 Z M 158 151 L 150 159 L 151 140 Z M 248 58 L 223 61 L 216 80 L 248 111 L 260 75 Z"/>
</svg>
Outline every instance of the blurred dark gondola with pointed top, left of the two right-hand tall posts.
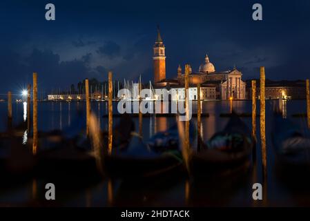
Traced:
<svg viewBox="0 0 310 221">
<path fill-rule="evenodd" d="M 189 168 L 195 177 L 227 177 L 249 170 L 255 141 L 248 126 L 232 114 L 223 131 L 215 133 L 201 151 L 191 152 Z"/>
</svg>

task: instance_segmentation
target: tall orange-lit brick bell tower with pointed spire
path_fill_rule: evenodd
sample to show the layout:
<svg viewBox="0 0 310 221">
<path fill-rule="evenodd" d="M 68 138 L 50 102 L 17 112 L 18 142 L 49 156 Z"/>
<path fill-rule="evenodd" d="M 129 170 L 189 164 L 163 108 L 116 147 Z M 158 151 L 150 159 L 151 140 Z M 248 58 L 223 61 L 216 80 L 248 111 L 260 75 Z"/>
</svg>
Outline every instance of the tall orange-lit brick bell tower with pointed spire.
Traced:
<svg viewBox="0 0 310 221">
<path fill-rule="evenodd" d="M 157 26 L 157 39 L 153 46 L 154 84 L 166 79 L 166 56 L 162 36 Z"/>
</svg>

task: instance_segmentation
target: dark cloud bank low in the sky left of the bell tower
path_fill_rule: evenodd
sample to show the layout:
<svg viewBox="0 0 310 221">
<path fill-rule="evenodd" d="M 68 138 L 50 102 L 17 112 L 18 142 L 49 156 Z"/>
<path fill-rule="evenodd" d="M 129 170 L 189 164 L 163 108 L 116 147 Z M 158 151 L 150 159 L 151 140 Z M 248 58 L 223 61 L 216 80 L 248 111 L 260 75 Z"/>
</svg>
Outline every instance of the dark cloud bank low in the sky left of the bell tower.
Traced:
<svg viewBox="0 0 310 221">
<path fill-rule="evenodd" d="M 48 91 L 52 88 L 66 88 L 70 84 L 86 77 L 101 77 L 101 68 L 90 66 L 91 53 L 82 56 L 81 59 L 61 61 L 60 56 L 52 50 L 39 50 L 35 48 L 26 57 L 22 57 L 12 50 L 0 52 L 1 93 L 25 88 L 32 84 L 32 73 L 38 74 L 38 87 Z M 100 74 L 99 75 L 99 71 Z M 14 76 L 14 79 L 12 79 Z"/>
</svg>

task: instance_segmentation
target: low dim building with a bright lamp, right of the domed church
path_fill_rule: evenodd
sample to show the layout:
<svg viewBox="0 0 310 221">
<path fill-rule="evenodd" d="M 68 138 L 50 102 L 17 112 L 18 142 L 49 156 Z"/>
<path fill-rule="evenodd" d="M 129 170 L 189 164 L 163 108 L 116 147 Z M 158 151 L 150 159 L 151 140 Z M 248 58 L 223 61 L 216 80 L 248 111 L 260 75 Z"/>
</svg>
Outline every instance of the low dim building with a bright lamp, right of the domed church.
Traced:
<svg viewBox="0 0 310 221">
<path fill-rule="evenodd" d="M 246 84 L 246 98 L 252 97 L 251 80 Z M 256 79 L 256 94 L 260 95 L 260 79 Z M 306 81 L 271 81 L 265 82 L 265 99 L 279 99 L 280 97 L 287 99 L 306 99 Z"/>
</svg>

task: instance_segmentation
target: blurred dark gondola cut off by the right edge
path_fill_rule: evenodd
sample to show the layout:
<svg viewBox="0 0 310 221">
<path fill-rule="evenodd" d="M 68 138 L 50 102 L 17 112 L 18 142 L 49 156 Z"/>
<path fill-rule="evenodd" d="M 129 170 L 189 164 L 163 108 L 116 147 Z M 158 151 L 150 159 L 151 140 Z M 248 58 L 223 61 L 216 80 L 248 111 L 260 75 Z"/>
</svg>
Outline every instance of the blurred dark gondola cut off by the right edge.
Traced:
<svg viewBox="0 0 310 221">
<path fill-rule="evenodd" d="M 283 119 L 275 113 L 271 133 L 273 148 L 277 157 L 276 168 L 289 180 L 302 177 L 308 180 L 310 173 L 310 138 L 290 119 Z"/>
</svg>

